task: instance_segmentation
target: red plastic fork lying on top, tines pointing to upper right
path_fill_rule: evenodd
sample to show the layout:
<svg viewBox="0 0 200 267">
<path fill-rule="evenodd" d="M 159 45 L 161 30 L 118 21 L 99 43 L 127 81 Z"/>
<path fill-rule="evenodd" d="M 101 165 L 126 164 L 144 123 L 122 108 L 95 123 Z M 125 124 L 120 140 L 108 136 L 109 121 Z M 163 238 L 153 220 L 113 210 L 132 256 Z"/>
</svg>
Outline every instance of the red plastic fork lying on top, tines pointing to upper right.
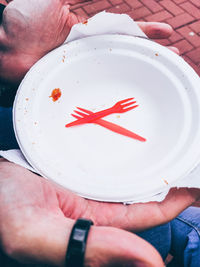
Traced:
<svg viewBox="0 0 200 267">
<path fill-rule="evenodd" d="M 136 101 L 128 102 L 128 101 L 133 100 L 133 99 L 134 98 L 132 97 L 132 98 L 127 98 L 127 99 L 118 101 L 111 108 L 92 113 L 92 114 L 90 114 L 84 118 L 70 122 L 70 123 L 66 124 L 65 127 L 71 127 L 71 126 L 75 126 L 75 125 L 79 125 L 79 124 L 83 124 L 83 123 L 93 122 L 97 119 L 103 118 L 103 117 L 108 116 L 108 115 L 113 114 L 113 113 L 124 113 L 124 112 L 127 112 L 129 110 L 132 110 L 132 109 L 138 107 L 138 105 L 131 106 L 131 105 L 135 104 Z M 80 108 L 80 107 L 77 107 L 77 109 L 79 109 L 81 111 L 85 110 L 85 109 Z M 78 113 L 77 111 L 75 111 L 75 112 Z M 71 114 L 71 115 L 73 116 L 73 114 Z"/>
</svg>

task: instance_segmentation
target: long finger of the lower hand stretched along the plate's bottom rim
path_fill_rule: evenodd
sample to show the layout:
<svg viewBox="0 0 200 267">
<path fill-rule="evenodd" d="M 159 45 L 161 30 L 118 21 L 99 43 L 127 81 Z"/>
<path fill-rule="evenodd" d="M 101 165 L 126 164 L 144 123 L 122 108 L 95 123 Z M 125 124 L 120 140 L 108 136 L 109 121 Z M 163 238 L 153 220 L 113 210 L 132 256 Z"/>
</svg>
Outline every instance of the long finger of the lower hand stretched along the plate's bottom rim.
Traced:
<svg viewBox="0 0 200 267">
<path fill-rule="evenodd" d="M 137 203 L 127 206 L 86 200 L 58 187 L 57 195 L 62 212 L 67 217 L 70 216 L 72 219 L 86 217 L 91 218 L 95 225 L 99 226 L 143 231 L 174 219 L 200 197 L 200 190 L 171 189 L 162 202 Z"/>
</svg>

